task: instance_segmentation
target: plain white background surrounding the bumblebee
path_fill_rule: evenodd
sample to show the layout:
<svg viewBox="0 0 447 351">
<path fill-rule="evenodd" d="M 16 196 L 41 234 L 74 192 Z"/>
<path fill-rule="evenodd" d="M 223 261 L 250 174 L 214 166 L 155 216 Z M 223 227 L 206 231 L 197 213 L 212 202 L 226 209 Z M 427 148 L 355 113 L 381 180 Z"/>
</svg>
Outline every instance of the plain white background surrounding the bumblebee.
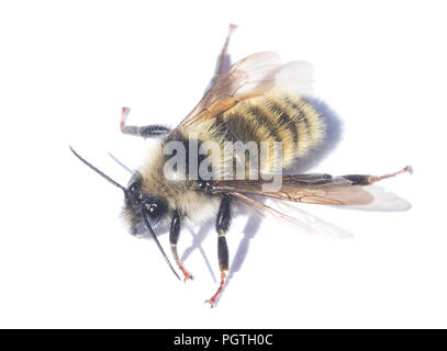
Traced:
<svg viewBox="0 0 447 351">
<path fill-rule="evenodd" d="M 442 1 L 3 1 L 0 327 L 447 327 L 445 14 Z M 120 134 L 121 106 L 135 124 L 178 123 L 228 23 L 234 59 L 275 50 L 313 64 L 316 95 L 344 122 L 314 170 L 411 163 L 414 176 L 383 185 L 413 208 L 306 207 L 350 240 L 269 220 L 244 233 L 239 216 L 227 236 L 237 264 L 210 309 L 214 231 L 191 248 L 185 230 L 195 280 L 178 282 L 154 242 L 126 233 L 122 193 L 68 145 L 125 184 L 107 152 L 137 167 L 152 144 Z"/>
</svg>

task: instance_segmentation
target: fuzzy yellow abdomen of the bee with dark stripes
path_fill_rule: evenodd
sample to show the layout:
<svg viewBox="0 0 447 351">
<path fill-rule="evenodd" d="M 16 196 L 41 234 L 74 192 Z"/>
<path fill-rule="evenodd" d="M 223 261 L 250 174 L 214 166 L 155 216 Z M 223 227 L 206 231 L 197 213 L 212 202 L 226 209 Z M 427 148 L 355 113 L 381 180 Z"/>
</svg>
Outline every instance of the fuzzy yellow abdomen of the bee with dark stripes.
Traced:
<svg viewBox="0 0 447 351">
<path fill-rule="evenodd" d="M 239 102 L 213 120 L 215 138 L 230 141 L 280 141 L 282 167 L 317 147 L 325 137 L 325 123 L 305 100 L 270 93 Z"/>
</svg>

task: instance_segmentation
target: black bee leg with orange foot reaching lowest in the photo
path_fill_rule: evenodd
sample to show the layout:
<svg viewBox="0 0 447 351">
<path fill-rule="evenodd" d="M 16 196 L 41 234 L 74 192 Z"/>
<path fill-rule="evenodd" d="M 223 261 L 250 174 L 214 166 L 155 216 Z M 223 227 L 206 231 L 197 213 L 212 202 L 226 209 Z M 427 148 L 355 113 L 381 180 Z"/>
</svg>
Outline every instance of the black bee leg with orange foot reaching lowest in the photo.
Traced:
<svg viewBox="0 0 447 351">
<path fill-rule="evenodd" d="M 215 228 L 219 234 L 217 258 L 219 258 L 219 269 L 221 271 L 221 283 L 215 294 L 210 299 L 206 301 L 206 303 L 209 303 L 211 307 L 214 306 L 217 296 L 222 293 L 226 279 L 225 272 L 228 271 L 228 247 L 226 245 L 225 235 L 228 231 L 231 218 L 232 218 L 231 197 L 226 195 L 225 197 L 222 199 L 215 225 Z"/>
</svg>

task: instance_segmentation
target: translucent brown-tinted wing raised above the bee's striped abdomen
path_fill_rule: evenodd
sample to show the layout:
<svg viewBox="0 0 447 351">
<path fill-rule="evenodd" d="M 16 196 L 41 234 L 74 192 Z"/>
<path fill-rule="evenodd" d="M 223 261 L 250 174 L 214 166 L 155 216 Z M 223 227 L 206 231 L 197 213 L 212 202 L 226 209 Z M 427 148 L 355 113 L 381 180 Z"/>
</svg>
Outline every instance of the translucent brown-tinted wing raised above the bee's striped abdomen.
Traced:
<svg viewBox="0 0 447 351">
<path fill-rule="evenodd" d="M 272 89 L 311 93 L 312 67 L 294 61 L 281 66 L 276 53 L 257 53 L 234 64 L 205 93 L 199 104 L 172 131 L 215 117 L 237 102 L 259 97 Z"/>
</svg>

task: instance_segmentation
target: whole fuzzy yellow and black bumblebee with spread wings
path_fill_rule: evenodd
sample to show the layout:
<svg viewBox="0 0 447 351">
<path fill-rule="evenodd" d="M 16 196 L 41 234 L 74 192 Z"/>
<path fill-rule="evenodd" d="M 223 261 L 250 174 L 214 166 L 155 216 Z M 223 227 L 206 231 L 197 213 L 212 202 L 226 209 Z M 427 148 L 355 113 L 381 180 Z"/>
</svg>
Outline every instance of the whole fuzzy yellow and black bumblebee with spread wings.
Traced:
<svg viewBox="0 0 447 351">
<path fill-rule="evenodd" d="M 401 211 L 409 208 L 405 201 L 378 196 L 378 192 L 372 191 L 375 186 L 371 184 L 412 171 L 411 167 L 405 167 L 381 177 L 281 173 L 280 186 L 266 188 L 269 180 L 266 180 L 265 174 L 273 177 L 278 170 L 290 169 L 297 159 L 309 155 L 325 143 L 328 129 L 325 116 L 306 99 L 311 93 L 310 64 L 293 61 L 281 65 L 277 54 L 266 52 L 250 55 L 231 66 L 227 46 L 234 27 L 230 26 L 217 59 L 215 75 L 202 100 L 177 127 L 170 129 L 163 125 L 127 125 L 130 109 L 123 107 L 120 125 L 122 133 L 144 138 L 153 137 L 159 141 L 143 167 L 133 174 L 127 186 L 112 180 L 70 147 L 83 163 L 124 192 L 123 217 L 128 224 L 131 234 L 148 231 L 177 278 L 179 275 L 170 264 L 154 230 L 163 225 L 170 227 L 171 252 L 178 269 L 185 280 L 188 280 L 191 275 L 183 268 L 177 252 L 182 224 L 188 218 L 192 222 L 215 218 L 221 281 L 217 291 L 206 301 L 211 306 L 216 303 L 228 271 L 226 234 L 236 202 L 259 213 L 268 212 L 295 222 L 299 220 L 266 205 L 257 196 L 333 206 L 373 204 L 375 208 L 382 206 L 387 210 Z M 210 150 L 201 152 L 202 147 L 210 141 L 217 145 L 221 152 Z M 230 158 L 228 161 L 223 155 L 231 143 L 243 145 L 266 143 L 267 156 L 271 156 L 275 152 L 275 144 L 279 144 L 280 166 L 273 165 L 271 157 L 265 157 L 261 152 L 255 152 L 253 159 L 241 160 L 239 157 L 236 161 L 234 158 Z M 180 172 L 178 169 L 167 170 L 166 166 L 171 160 L 169 156 L 172 154 L 167 155 L 166 149 L 170 145 L 180 146 L 179 149 L 185 152 L 186 162 Z M 191 159 L 195 159 L 197 162 L 192 165 Z M 201 162 L 206 159 L 220 171 L 219 177 L 215 177 L 215 172 L 211 176 L 200 172 Z M 249 162 L 252 160 L 253 163 Z M 239 166 L 242 163 L 243 169 L 247 171 L 243 177 L 234 177 L 235 163 Z M 209 177 L 205 177 L 206 174 Z"/>
</svg>

